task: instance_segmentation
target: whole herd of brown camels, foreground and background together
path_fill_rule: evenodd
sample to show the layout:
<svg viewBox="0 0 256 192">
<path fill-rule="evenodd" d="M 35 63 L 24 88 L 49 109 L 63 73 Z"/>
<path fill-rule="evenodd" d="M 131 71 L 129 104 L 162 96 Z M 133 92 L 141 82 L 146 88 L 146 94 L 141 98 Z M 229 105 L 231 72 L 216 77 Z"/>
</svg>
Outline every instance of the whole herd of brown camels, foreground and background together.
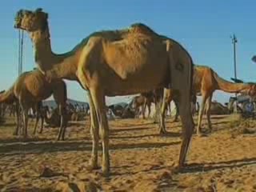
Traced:
<svg viewBox="0 0 256 192">
<path fill-rule="evenodd" d="M 202 114 L 206 112 L 209 130 L 210 105 L 215 90 L 229 93 L 256 94 L 256 86 L 232 83 L 220 78 L 207 66 L 195 66 L 190 54 L 178 42 L 157 34 L 149 26 L 136 23 L 122 30 L 103 30 L 90 34 L 66 54 L 51 50 L 48 14 L 42 9 L 19 10 L 14 28 L 30 35 L 37 69 L 21 74 L 9 90 L 0 94 L 0 102 L 17 104 L 22 111 L 24 137 L 27 136 L 28 110 L 42 108 L 42 100 L 54 96 L 61 116 L 58 139 L 66 130 L 66 84 L 76 81 L 87 90 L 90 102 L 90 132 L 92 136 L 91 169 L 98 168 L 98 142 L 102 140 L 102 174 L 110 174 L 109 125 L 107 110 L 121 117 L 139 115 L 154 102 L 155 119 L 160 134 L 166 134 L 166 110 L 170 102 L 177 106 L 182 122 L 182 146 L 178 168 L 185 166 L 186 154 L 194 132 L 197 96 L 202 96 L 198 114 L 197 134 L 201 134 Z M 140 94 L 126 107 L 106 107 L 106 96 Z M 136 111 L 131 111 L 135 109 Z M 38 113 L 39 114 L 39 113 Z M 126 115 L 125 115 L 126 114 Z M 176 119 L 177 119 L 176 117 Z M 38 118 L 37 118 L 38 119 Z M 35 130 L 34 130 L 35 131 Z M 18 126 L 16 130 L 18 134 Z"/>
</svg>

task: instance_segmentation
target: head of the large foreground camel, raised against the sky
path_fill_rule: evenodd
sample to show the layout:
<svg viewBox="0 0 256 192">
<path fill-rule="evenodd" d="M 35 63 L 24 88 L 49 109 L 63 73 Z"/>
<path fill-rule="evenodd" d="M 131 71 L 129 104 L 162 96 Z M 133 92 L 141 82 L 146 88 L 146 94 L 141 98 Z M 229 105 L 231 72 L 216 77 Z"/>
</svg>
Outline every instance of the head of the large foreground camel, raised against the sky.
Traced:
<svg viewBox="0 0 256 192">
<path fill-rule="evenodd" d="M 42 11 L 41 8 L 37 10 L 19 10 L 15 17 L 14 28 L 34 32 L 38 30 L 46 30 L 48 14 Z"/>
</svg>

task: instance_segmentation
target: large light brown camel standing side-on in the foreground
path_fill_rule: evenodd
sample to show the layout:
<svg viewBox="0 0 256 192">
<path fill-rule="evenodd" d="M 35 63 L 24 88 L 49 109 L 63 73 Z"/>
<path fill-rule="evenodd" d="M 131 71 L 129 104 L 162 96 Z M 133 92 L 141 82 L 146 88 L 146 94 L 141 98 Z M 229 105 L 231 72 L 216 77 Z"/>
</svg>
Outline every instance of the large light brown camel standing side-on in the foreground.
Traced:
<svg viewBox="0 0 256 192">
<path fill-rule="evenodd" d="M 110 173 L 109 126 L 105 96 L 138 94 L 157 87 L 180 91 L 183 139 L 178 166 L 183 166 L 193 133 L 190 88 L 193 62 L 190 54 L 170 38 L 148 26 L 134 24 L 124 30 L 90 34 L 66 54 L 54 54 L 50 45 L 48 14 L 19 10 L 15 28 L 26 30 L 34 43 L 34 59 L 46 78 L 78 81 L 88 90 L 93 147 L 91 166 L 98 168 L 98 130 L 102 137 L 102 173 Z M 99 128 L 99 129 L 98 129 Z"/>
</svg>

